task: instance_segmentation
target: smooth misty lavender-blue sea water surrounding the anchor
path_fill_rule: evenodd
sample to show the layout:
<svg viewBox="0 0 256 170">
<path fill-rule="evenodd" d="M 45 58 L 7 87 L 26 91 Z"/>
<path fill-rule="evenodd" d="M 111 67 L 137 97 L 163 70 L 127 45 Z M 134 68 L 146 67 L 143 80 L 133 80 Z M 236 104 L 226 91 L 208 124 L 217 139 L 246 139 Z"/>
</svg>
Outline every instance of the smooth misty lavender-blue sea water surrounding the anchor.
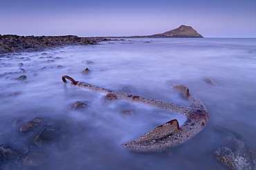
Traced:
<svg viewBox="0 0 256 170">
<path fill-rule="evenodd" d="M 91 74 L 81 73 L 86 67 Z M 21 75 L 26 80 L 16 80 Z M 104 94 L 63 83 L 63 75 L 117 91 L 126 85 L 135 95 L 180 105 L 188 102 L 172 86 L 186 85 L 210 118 L 203 131 L 179 147 L 129 151 L 122 143 L 174 118 L 182 125 L 185 116 L 125 100 L 104 103 Z M 256 147 L 256 39 L 126 39 L 0 54 L 0 88 L 0 146 L 26 151 L 35 132 L 19 128 L 35 117 L 60 129 L 57 140 L 18 162 L 7 160 L 2 169 L 224 170 L 229 168 L 214 151 L 230 147 L 228 138 Z M 72 110 L 75 101 L 89 107 Z"/>
</svg>

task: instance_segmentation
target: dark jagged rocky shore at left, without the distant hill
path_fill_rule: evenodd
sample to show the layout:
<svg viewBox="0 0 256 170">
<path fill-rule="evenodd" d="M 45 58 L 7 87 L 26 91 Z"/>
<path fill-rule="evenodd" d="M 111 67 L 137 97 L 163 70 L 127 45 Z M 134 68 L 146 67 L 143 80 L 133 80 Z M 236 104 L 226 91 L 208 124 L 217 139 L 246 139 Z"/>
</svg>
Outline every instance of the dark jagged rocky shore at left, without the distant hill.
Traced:
<svg viewBox="0 0 256 170">
<path fill-rule="evenodd" d="M 10 52 L 35 52 L 63 45 L 95 45 L 106 38 L 86 38 L 74 35 L 67 36 L 18 36 L 0 34 L 0 54 Z"/>
</svg>

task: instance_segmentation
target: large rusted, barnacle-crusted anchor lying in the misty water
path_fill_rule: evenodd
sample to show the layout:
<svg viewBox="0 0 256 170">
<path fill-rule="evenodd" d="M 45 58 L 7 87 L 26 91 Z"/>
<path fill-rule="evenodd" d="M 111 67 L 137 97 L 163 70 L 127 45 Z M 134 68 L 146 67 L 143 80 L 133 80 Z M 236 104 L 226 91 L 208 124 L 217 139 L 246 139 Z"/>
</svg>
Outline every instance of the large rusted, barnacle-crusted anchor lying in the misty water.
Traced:
<svg viewBox="0 0 256 170">
<path fill-rule="evenodd" d="M 143 136 L 131 142 L 122 144 L 122 147 L 132 151 L 163 151 L 181 145 L 192 136 L 196 135 L 205 127 L 208 122 L 208 112 L 205 105 L 194 94 L 189 92 L 185 85 L 176 85 L 174 89 L 179 91 L 185 98 L 188 99 L 190 106 L 177 105 L 175 103 L 168 103 L 161 100 L 145 98 L 143 96 L 134 96 L 123 92 L 116 92 L 110 89 L 104 89 L 89 83 L 75 81 L 70 76 L 62 76 L 62 81 L 66 83 L 66 78 L 70 80 L 71 85 L 83 87 L 85 89 L 100 92 L 102 94 L 113 94 L 116 98 L 130 100 L 137 103 L 152 105 L 160 109 L 172 111 L 187 116 L 187 120 L 181 127 L 176 119 L 170 120 L 155 129 L 148 131 Z"/>
</svg>

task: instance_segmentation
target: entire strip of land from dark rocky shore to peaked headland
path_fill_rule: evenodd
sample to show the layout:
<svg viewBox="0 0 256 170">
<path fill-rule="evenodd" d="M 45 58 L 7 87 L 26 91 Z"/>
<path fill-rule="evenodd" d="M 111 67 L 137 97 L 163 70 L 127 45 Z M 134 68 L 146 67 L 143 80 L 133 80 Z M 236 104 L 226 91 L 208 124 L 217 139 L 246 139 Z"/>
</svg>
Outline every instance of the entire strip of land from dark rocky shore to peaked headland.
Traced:
<svg viewBox="0 0 256 170">
<path fill-rule="evenodd" d="M 104 37 L 79 37 L 67 36 L 18 36 L 13 34 L 0 34 L 0 54 L 9 52 L 42 51 L 61 45 L 89 45 L 100 41 L 111 41 L 125 38 L 203 38 L 192 27 L 181 25 L 179 28 L 147 36 L 104 36 Z"/>
</svg>

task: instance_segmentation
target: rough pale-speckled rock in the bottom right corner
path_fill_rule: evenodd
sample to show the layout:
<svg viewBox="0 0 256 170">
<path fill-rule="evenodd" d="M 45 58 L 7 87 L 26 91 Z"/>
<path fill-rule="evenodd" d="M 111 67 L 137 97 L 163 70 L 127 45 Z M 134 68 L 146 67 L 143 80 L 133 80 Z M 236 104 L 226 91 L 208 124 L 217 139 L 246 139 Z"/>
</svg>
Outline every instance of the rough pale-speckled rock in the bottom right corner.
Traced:
<svg viewBox="0 0 256 170">
<path fill-rule="evenodd" d="M 218 148 L 214 152 L 215 158 L 231 169 L 256 169 L 256 149 L 241 140 L 232 139 L 237 146 L 233 151 L 228 147 Z"/>
</svg>

